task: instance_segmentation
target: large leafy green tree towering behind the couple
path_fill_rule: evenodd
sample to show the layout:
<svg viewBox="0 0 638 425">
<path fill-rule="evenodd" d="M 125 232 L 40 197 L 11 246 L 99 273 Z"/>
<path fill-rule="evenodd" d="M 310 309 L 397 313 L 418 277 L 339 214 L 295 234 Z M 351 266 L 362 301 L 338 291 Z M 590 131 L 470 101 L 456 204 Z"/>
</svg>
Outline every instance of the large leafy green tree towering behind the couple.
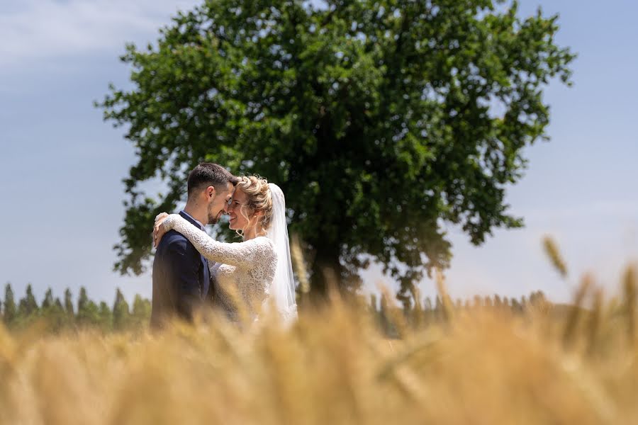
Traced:
<svg viewBox="0 0 638 425">
<path fill-rule="evenodd" d="M 446 223 L 477 245 L 520 227 L 505 189 L 547 139 L 543 89 L 569 84 L 574 55 L 554 41 L 557 16 L 502 3 L 206 1 L 156 45 L 128 45 L 133 89 L 97 104 L 138 154 L 116 269 L 143 271 L 153 218 L 201 161 L 281 186 L 314 293 L 356 287 L 371 259 L 405 295 L 449 264 Z M 157 176 L 167 193 L 142 190 Z"/>
</svg>

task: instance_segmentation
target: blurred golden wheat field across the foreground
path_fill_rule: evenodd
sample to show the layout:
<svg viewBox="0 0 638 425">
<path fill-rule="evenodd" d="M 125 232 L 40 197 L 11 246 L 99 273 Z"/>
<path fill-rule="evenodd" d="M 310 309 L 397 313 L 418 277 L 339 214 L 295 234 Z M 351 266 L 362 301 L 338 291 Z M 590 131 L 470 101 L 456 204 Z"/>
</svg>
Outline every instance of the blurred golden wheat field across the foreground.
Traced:
<svg viewBox="0 0 638 425">
<path fill-rule="evenodd" d="M 423 326 L 339 299 L 240 331 L 0 329 L 4 424 L 637 424 L 636 273 L 618 302 L 455 308 Z M 420 323 L 417 325 L 415 323 Z"/>
</svg>

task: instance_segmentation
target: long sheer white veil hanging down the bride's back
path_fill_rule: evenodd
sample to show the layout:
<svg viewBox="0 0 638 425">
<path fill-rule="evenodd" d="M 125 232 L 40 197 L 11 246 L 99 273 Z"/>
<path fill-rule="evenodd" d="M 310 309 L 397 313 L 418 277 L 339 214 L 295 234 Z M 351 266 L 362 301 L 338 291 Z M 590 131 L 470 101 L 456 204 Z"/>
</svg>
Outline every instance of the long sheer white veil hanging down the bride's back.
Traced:
<svg viewBox="0 0 638 425">
<path fill-rule="evenodd" d="M 274 183 L 268 183 L 268 186 L 272 195 L 272 222 L 267 237 L 273 242 L 277 254 L 277 269 L 270 297 L 284 322 L 289 322 L 297 317 L 297 302 L 286 222 L 286 198 L 279 186 Z"/>
</svg>

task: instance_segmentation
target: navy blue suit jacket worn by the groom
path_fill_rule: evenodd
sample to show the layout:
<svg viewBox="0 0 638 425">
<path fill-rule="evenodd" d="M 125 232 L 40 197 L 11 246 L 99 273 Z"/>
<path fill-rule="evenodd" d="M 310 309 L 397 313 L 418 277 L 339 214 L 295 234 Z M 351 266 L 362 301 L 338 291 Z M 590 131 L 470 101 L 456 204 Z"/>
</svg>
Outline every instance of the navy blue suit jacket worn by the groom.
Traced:
<svg viewBox="0 0 638 425">
<path fill-rule="evenodd" d="M 181 217 L 199 228 L 188 215 Z M 192 321 L 194 311 L 210 298 L 208 261 L 184 235 L 170 230 L 157 246 L 153 261 L 152 327 L 174 316 Z"/>
</svg>

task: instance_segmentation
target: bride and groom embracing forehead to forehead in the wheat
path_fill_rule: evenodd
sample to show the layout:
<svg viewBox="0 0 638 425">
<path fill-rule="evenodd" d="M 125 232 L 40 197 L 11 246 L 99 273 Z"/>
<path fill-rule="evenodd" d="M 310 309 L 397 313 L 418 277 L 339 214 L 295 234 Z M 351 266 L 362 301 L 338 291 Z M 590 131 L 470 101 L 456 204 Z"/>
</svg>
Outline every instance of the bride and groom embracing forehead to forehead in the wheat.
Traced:
<svg viewBox="0 0 638 425">
<path fill-rule="evenodd" d="M 296 317 L 286 203 L 279 186 L 257 176 L 233 176 L 204 163 L 189 174 L 186 207 L 155 218 L 152 327 L 172 317 L 191 321 L 206 306 L 253 320 L 269 306 L 285 321 Z M 223 243 L 204 225 L 230 216 L 242 242 Z M 239 305 L 241 304 L 241 305 Z"/>
</svg>

